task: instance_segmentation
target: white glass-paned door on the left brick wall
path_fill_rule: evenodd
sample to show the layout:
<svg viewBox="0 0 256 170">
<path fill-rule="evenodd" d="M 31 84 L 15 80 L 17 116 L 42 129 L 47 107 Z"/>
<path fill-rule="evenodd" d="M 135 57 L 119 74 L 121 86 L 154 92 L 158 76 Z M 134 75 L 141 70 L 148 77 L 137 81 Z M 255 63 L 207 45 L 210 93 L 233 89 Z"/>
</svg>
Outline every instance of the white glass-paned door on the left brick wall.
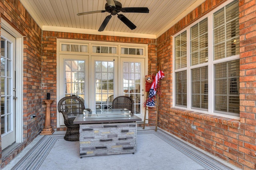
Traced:
<svg viewBox="0 0 256 170">
<path fill-rule="evenodd" d="M 15 38 L 1 29 L 2 150 L 15 142 Z"/>
</svg>

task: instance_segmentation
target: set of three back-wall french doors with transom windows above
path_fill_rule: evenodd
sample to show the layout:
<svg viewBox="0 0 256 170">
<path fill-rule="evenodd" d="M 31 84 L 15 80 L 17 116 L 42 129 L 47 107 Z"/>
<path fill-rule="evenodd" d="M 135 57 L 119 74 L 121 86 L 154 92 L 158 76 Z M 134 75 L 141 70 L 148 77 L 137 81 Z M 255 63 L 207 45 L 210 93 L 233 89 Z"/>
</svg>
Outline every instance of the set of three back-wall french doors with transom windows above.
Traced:
<svg viewBox="0 0 256 170">
<path fill-rule="evenodd" d="M 133 113 L 144 121 L 147 45 L 57 40 L 57 100 L 84 98 L 86 108 L 108 110 L 115 97 L 134 100 Z M 61 113 L 57 127 L 64 125 Z"/>
</svg>

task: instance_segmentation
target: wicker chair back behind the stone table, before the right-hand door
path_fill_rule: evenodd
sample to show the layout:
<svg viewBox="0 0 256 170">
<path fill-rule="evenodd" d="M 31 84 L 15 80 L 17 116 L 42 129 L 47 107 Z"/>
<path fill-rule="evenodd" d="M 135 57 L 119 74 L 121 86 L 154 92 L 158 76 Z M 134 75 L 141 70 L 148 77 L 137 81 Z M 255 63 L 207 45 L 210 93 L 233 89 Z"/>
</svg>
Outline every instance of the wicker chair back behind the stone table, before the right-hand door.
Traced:
<svg viewBox="0 0 256 170">
<path fill-rule="evenodd" d="M 134 101 L 129 96 L 118 96 L 112 102 L 112 109 L 128 109 L 134 114 Z"/>
</svg>

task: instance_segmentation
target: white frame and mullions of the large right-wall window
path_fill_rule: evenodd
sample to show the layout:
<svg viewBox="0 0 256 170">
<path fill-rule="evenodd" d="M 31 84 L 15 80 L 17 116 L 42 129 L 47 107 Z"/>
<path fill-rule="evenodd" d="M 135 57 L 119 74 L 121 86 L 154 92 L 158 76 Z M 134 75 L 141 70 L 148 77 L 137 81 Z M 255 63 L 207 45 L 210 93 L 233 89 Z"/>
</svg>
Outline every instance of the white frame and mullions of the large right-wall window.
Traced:
<svg viewBox="0 0 256 170">
<path fill-rule="evenodd" d="M 177 32 L 176 34 L 174 34 L 174 36 L 172 36 L 173 39 L 173 50 L 174 51 L 174 38 L 176 36 L 178 36 L 179 34 L 181 34 L 184 31 L 187 31 L 187 67 L 184 68 L 180 68 L 180 69 L 176 69 L 175 70 L 175 59 L 173 59 L 173 84 L 172 84 L 172 88 L 174 89 L 174 93 L 173 93 L 173 105 L 172 107 L 174 108 L 178 108 L 178 109 L 186 109 L 189 111 L 196 111 L 196 112 L 200 112 L 200 113 L 206 113 L 206 114 L 211 114 L 211 115 L 216 115 L 216 116 L 221 116 L 221 117 L 227 117 L 230 119 L 240 119 L 240 117 L 238 116 L 232 116 L 232 115 L 226 115 L 226 114 L 221 114 L 221 113 L 216 113 L 214 112 L 214 64 L 216 63 L 222 63 L 225 61 L 231 61 L 234 59 L 240 59 L 240 55 L 234 55 L 232 57 L 225 57 L 222 59 L 218 59 L 218 60 L 213 60 L 213 14 L 214 12 L 217 12 L 218 10 L 220 10 L 221 8 L 223 8 L 224 6 L 232 3 L 234 0 L 232 1 L 226 1 L 224 2 L 222 5 L 218 6 L 218 8 L 215 8 L 214 10 L 212 10 L 211 12 L 209 12 L 208 14 L 206 14 L 205 16 L 203 16 L 202 18 L 198 19 L 195 23 L 191 24 L 190 26 L 184 28 L 183 30 L 181 30 L 180 32 Z M 194 26 L 195 24 L 198 24 L 198 22 L 204 20 L 205 18 L 208 18 L 208 63 L 202 63 L 202 64 L 198 64 L 198 65 L 191 65 L 190 64 L 190 28 L 192 26 Z M 174 58 L 175 53 L 173 52 L 173 58 Z M 199 67 L 204 67 L 208 65 L 208 111 L 203 111 L 200 109 L 192 109 L 191 108 L 191 70 L 193 68 L 199 68 Z M 181 107 L 181 106 L 176 106 L 176 79 L 175 79 L 175 73 L 179 72 L 179 71 L 187 71 L 187 106 L 186 107 Z"/>
</svg>

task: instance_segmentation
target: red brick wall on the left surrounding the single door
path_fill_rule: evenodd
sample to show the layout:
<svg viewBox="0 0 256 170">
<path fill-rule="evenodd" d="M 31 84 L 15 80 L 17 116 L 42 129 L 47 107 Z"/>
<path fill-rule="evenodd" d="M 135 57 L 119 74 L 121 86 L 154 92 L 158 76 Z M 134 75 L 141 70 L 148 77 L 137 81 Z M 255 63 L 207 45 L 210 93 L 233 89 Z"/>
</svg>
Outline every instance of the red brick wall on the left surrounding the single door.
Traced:
<svg viewBox="0 0 256 170">
<path fill-rule="evenodd" d="M 23 51 L 23 140 L 13 152 L 2 158 L 0 164 L 4 167 L 24 147 L 26 147 L 42 130 L 44 114 L 42 114 L 41 88 L 41 29 L 31 18 L 19 0 L 0 1 L 0 19 L 8 22 L 24 37 Z M 18 85 L 18 84 L 17 84 Z M 19 114 L 19 113 L 16 113 Z M 30 115 L 36 115 L 31 119 Z"/>
</svg>

